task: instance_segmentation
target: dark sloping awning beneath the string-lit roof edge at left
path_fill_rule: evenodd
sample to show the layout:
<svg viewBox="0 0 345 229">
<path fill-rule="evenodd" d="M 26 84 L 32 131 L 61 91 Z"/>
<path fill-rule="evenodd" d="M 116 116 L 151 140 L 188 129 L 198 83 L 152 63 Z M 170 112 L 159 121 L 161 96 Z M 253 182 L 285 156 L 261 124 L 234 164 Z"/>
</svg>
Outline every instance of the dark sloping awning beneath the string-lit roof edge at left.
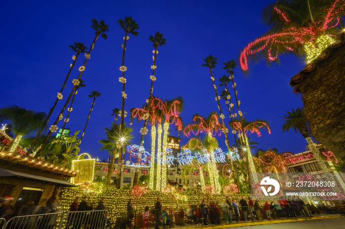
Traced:
<svg viewBox="0 0 345 229">
<path fill-rule="evenodd" d="M 0 177 L 1 176 L 18 176 L 18 177 L 24 177 L 28 179 L 33 179 L 33 180 L 39 180 L 39 181 L 44 181 L 48 183 L 53 183 L 53 184 L 58 184 L 59 186 L 63 187 L 76 187 L 77 185 L 72 184 L 66 180 L 59 180 L 55 178 L 50 178 L 50 177 L 45 177 L 45 176 L 39 176 L 39 175 L 33 175 L 25 172 L 18 172 L 18 171 L 11 171 L 11 170 L 5 170 L 5 169 L 0 169 Z"/>
</svg>

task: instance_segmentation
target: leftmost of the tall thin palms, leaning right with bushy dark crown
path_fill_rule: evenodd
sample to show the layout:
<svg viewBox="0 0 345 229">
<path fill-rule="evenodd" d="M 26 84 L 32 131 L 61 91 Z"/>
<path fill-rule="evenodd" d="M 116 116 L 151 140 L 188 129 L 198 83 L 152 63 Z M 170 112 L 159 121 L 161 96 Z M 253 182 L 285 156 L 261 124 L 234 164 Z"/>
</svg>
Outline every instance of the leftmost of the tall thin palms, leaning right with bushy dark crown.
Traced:
<svg viewBox="0 0 345 229">
<path fill-rule="evenodd" d="M 82 54 L 82 53 L 85 53 L 85 50 L 86 50 L 86 47 L 84 46 L 84 44 L 83 44 L 83 43 L 79 43 L 79 42 L 74 42 L 74 46 L 73 46 L 73 45 L 70 45 L 69 48 L 70 48 L 72 51 L 76 52 L 76 56 L 73 55 L 73 57 L 72 57 L 72 58 L 74 59 L 74 61 L 73 61 L 73 63 L 70 64 L 69 72 L 68 72 L 67 75 L 66 75 L 65 82 L 64 82 L 64 84 L 61 86 L 61 89 L 60 89 L 60 92 L 59 92 L 61 95 L 62 95 L 62 91 L 64 90 L 64 88 L 65 88 L 65 86 L 66 86 L 67 80 L 69 79 L 69 74 L 71 73 L 71 71 L 72 71 L 72 69 L 73 69 L 73 67 L 74 67 L 74 65 L 75 65 L 75 62 L 77 61 L 79 55 Z M 54 112 L 54 110 L 55 110 L 55 107 L 56 107 L 56 105 L 58 104 L 58 101 L 59 101 L 59 96 L 56 98 L 53 107 L 51 107 L 51 108 L 49 109 L 49 113 L 48 113 L 47 117 L 45 118 L 42 127 L 38 130 L 38 132 L 37 132 L 37 134 L 36 134 L 36 137 L 35 137 L 35 139 L 34 139 L 32 145 L 29 147 L 29 150 L 28 150 L 28 153 L 27 153 L 28 155 L 31 153 L 31 151 L 33 150 L 35 144 L 37 143 L 37 140 L 38 140 L 39 136 L 41 135 L 41 133 L 42 133 L 42 131 L 43 131 L 43 127 L 47 125 L 50 116 L 53 114 L 53 112 Z"/>
</svg>

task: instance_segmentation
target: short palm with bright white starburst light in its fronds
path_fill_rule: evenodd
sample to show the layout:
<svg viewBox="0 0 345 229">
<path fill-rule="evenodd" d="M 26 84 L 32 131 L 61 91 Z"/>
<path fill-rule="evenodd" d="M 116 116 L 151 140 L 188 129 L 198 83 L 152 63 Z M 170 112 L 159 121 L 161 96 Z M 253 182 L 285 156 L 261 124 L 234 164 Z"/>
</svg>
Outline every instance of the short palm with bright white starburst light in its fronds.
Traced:
<svg viewBox="0 0 345 229">
<path fill-rule="evenodd" d="M 120 126 L 116 124 L 115 122 L 111 122 L 110 128 L 105 129 L 106 137 L 105 139 L 100 140 L 100 143 L 103 144 L 101 147 L 101 150 L 106 149 L 109 151 L 111 155 L 111 160 L 109 160 L 108 165 L 108 174 L 106 177 L 106 185 L 110 184 L 111 180 L 111 173 L 113 171 L 115 158 L 117 157 L 117 154 L 120 152 L 120 148 L 123 148 L 125 145 L 130 144 L 129 140 L 133 138 L 131 135 L 131 132 L 133 131 L 131 128 L 128 128 L 125 126 L 124 128 L 124 135 L 120 134 Z M 119 158 L 119 157 L 118 157 Z M 120 162 L 122 164 L 122 161 Z M 117 173 L 119 172 L 120 166 L 117 166 Z M 118 182 L 121 183 L 121 177 L 117 176 Z"/>
</svg>

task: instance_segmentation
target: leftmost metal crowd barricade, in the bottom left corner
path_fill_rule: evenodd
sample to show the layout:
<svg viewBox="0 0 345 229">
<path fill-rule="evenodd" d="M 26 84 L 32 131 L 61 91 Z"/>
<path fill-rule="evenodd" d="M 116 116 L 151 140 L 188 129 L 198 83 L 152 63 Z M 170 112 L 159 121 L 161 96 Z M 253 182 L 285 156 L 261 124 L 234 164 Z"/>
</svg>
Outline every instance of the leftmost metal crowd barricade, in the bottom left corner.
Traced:
<svg viewBox="0 0 345 229">
<path fill-rule="evenodd" d="M 15 216 L 9 219 L 3 229 L 53 229 L 57 219 L 62 218 L 62 212 Z"/>
</svg>

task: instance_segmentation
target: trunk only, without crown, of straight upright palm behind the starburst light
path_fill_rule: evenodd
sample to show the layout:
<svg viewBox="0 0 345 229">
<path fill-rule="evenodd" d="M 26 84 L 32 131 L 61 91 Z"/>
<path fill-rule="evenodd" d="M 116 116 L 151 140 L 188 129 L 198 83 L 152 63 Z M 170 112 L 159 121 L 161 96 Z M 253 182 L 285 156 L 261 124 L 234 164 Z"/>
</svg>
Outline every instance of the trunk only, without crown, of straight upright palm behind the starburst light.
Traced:
<svg viewBox="0 0 345 229">
<path fill-rule="evenodd" d="M 126 43 L 127 43 L 127 35 L 128 32 L 126 31 L 125 34 L 125 41 L 123 43 L 123 49 L 122 49 L 122 66 L 125 66 L 125 51 L 126 51 Z M 125 78 L 125 71 L 122 71 L 122 77 Z M 122 82 L 122 100 L 121 100 L 121 121 L 120 121 L 120 136 L 123 136 L 123 125 L 124 125 L 124 118 L 125 118 L 125 97 L 124 94 L 125 93 L 125 82 Z M 117 186 L 116 188 L 120 188 L 121 187 L 121 172 L 122 172 L 122 147 L 120 147 L 120 152 L 119 152 L 119 160 L 117 162 L 118 164 L 118 169 L 117 169 L 117 180 L 119 182 L 117 182 Z M 136 185 L 135 183 L 133 183 L 133 185 Z"/>
</svg>

